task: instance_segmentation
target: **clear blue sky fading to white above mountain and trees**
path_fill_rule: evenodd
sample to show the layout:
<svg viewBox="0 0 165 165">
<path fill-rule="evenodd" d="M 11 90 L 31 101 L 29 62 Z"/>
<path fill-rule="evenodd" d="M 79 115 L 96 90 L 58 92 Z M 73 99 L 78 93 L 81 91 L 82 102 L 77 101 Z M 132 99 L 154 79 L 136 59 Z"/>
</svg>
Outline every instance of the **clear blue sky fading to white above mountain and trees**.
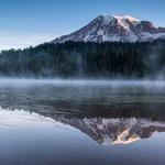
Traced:
<svg viewBox="0 0 165 165">
<path fill-rule="evenodd" d="M 165 26 L 165 0 L 0 0 L 0 50 L 35 46 L 100 14 L 127 14 Z"/>
</svg>

